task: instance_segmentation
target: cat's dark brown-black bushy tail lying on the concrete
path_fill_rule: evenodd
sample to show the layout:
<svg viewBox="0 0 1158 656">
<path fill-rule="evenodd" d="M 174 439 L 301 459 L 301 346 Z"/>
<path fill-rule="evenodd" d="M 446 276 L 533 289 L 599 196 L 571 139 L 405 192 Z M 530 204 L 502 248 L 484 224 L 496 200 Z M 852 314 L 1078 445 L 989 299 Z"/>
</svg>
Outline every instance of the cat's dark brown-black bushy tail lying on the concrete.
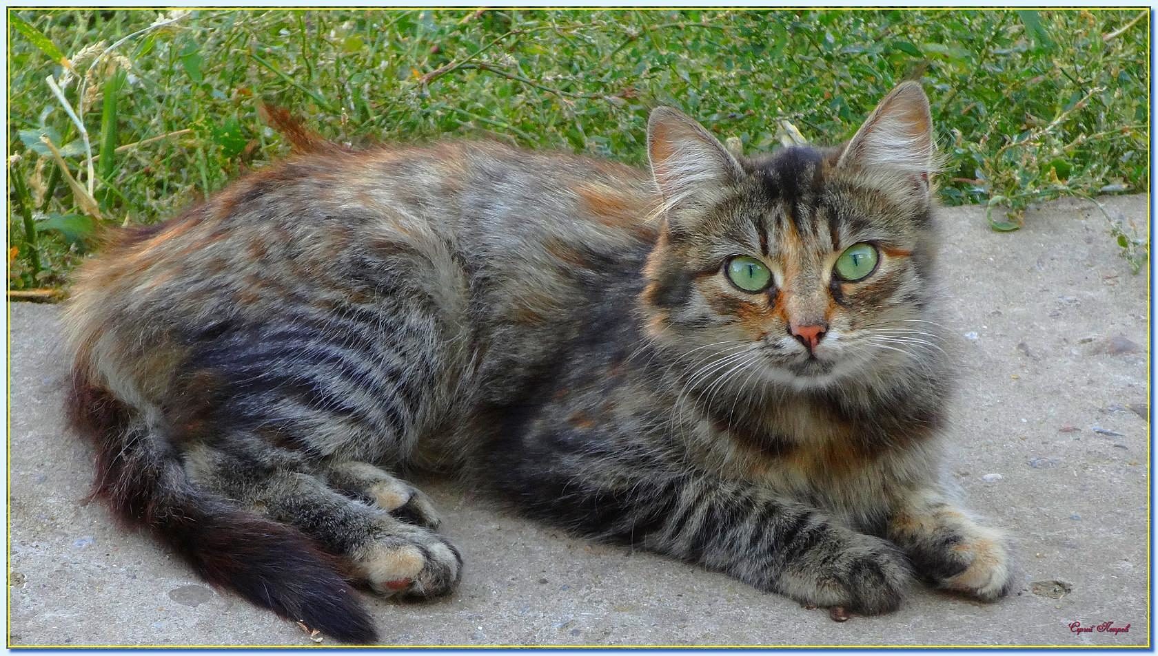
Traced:
<svg viewBox="0 0 1158 656">
<path fill-rule="evenodd" d="M 171 442 L 83 373 L 68 405 L 72 425 L 96 447 L 93 496 L 124 522 L 149 528 L 210 583 L 336 640 L 376 642 L 338 563 L 303 533 L 197 489 Z"/>
</svg>

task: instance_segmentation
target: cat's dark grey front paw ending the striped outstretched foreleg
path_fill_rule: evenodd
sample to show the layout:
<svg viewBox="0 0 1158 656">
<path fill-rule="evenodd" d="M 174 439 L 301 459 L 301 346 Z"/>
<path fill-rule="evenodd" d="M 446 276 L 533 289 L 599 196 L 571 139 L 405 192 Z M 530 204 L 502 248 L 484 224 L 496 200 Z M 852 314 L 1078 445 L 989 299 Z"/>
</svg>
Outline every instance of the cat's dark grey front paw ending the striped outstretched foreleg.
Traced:
<svg viewBox="0 0 1158 656">
<path fill-rule="evenodd" d="M 904 555 L 892 544 L 852 531 L 811 550 L 785 569 L 782 592 L 818 606 L 843 606 L 875 616 L 901 606 L 913 581 Z"/>
</svg>

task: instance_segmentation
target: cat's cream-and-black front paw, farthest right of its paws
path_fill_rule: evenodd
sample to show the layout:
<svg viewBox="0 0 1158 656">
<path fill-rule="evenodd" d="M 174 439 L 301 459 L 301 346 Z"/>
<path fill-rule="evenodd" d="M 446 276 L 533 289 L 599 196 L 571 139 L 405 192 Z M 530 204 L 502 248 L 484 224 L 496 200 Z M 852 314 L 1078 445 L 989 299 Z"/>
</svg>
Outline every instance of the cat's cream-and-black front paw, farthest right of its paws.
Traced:
<svg viewBox="0 0 1158 656">
<path fill-rule="evenodd" d="M 888 519 L 887 537 L 939 588 L 992 602 L 1013 585 L 1007 538 L 939 491 L 909 491 Z"/>
</svg>

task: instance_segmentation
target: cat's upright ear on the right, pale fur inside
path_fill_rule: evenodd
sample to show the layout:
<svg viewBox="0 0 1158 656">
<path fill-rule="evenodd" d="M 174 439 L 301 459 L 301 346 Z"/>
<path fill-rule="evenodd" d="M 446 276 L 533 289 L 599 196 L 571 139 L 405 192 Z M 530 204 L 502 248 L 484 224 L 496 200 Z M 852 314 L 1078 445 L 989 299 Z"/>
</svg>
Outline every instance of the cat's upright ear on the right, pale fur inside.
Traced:
<svg viewBox="0 0 1158 656">
<path fill-rule="evenodd" d="M 837 168 L 894 171 L 928 185 L 937 171 L 929 98 L 916 82 L 901 82 L 865 120 Z"/>
</svg>

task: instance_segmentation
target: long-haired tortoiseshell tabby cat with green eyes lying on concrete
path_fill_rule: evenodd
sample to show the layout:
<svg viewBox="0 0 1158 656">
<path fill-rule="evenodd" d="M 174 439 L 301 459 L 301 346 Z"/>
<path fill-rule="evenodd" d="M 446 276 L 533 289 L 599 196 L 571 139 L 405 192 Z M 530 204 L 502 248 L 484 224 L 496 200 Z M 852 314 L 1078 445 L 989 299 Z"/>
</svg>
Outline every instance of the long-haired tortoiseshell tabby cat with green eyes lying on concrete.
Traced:
<svg viewBox="0 0 1158 656">
<path fill-rule="evenodd" d="M 95 495 L 205 580 L 345 642 L 351 583 L 460 552 L 398 478 L 874 614 L 1009 592 L 940 477 L 929 101 L 747 159 L 669 108 L 650 172 L 493 142 L 312 153 L 119 231 L 66 310 Z"/>
</svg>

